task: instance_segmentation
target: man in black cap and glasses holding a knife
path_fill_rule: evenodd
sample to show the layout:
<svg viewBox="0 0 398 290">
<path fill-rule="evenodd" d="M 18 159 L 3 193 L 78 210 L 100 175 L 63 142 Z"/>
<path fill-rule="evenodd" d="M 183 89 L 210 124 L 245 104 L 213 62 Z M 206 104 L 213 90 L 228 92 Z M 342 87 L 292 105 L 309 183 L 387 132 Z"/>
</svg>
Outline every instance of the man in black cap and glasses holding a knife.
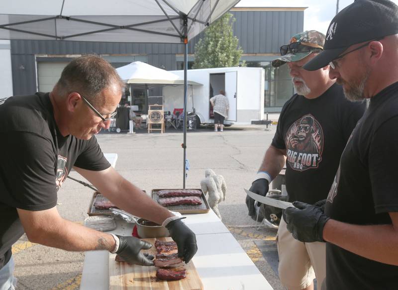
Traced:
<svg viewBox="0 0 398 290">
<path fill-rule="evenodd" d="M 288 229 L 326 241 L 327 289 L 398 289 L 398 6 L 356 0 L 329 25 L 324 51 L 304 69 L 330 64 L 350 100 L 370 99 L 341 156 L 325 211 L 294 203 Z"/>
</svg>

